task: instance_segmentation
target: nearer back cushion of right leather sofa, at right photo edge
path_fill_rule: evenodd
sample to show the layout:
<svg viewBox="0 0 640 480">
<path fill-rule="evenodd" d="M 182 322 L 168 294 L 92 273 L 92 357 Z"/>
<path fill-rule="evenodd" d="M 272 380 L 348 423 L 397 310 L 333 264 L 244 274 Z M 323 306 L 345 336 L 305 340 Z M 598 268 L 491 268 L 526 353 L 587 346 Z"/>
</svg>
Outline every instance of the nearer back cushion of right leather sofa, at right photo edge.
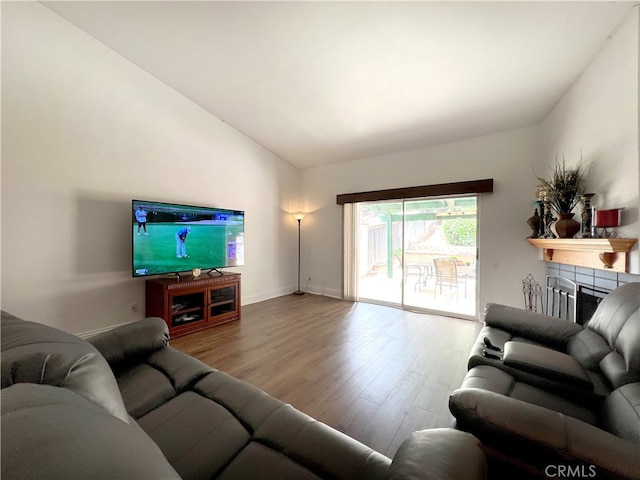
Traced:
<svg viewBox="0 0 640 480">
<path fill-rule="evenodd" d="M 611 392 L 603 408 L 603 427 L 640 445 L 640 383 L 628 383 Z"/>
</svg>

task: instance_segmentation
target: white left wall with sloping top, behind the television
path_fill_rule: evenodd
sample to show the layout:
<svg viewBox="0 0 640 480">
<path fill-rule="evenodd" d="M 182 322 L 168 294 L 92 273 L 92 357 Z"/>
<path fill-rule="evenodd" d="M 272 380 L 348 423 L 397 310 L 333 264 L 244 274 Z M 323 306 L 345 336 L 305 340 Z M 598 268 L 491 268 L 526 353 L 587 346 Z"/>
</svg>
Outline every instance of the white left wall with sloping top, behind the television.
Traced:
<svg viewBox="0 0 640 480">
<path fill-rule="evenodd" d="M 299 172 L 38 3 L 2 2 L 2 308 L 134 320 L 132 198 L 246 211 L 244 304 L 295 287 Z"/>
</svg>

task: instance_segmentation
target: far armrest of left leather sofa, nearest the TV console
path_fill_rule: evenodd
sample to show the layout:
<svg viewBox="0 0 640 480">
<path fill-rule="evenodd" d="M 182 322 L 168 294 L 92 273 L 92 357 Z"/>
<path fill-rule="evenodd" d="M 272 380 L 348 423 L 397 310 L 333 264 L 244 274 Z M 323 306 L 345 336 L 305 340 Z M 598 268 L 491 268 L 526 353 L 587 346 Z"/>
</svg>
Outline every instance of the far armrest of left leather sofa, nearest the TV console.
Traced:
<svg viewBox="0 0 640 480">
<path fill-rule="evenodd" d="M 139 360 L 169 343 L 169 328 L 159 317 L 121 325 L 87 339 L 113 367 Z"/>
</svg>

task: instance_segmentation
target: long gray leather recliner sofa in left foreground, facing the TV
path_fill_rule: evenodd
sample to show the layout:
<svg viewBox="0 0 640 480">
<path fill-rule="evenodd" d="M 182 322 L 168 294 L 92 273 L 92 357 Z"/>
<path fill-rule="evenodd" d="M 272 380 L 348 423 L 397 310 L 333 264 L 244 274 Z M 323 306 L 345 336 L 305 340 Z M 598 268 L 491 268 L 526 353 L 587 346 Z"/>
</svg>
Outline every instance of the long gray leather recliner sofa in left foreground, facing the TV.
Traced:
<svg viewBox="0 0 640 480">
<path fill-rule="evenodd" d="M 481 479 L 479 442 L 415 432 L 393 461 L 168 345 L 149 318 L 91 343 L 2 313 L 9 479 Z"/>
</svg>

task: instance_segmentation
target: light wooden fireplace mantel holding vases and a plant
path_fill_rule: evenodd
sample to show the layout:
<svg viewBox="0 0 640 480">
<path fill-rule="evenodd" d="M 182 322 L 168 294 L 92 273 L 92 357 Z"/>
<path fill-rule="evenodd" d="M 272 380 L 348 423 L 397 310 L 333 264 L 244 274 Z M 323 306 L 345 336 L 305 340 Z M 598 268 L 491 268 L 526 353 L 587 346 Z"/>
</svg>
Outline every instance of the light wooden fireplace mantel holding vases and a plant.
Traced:
<svg viewBox="0 0 640 480">
<path fill-rule="evenodd" d="M 635 238 L 527 238 L 547 262 L 628 272 Z"/>
</svg>

